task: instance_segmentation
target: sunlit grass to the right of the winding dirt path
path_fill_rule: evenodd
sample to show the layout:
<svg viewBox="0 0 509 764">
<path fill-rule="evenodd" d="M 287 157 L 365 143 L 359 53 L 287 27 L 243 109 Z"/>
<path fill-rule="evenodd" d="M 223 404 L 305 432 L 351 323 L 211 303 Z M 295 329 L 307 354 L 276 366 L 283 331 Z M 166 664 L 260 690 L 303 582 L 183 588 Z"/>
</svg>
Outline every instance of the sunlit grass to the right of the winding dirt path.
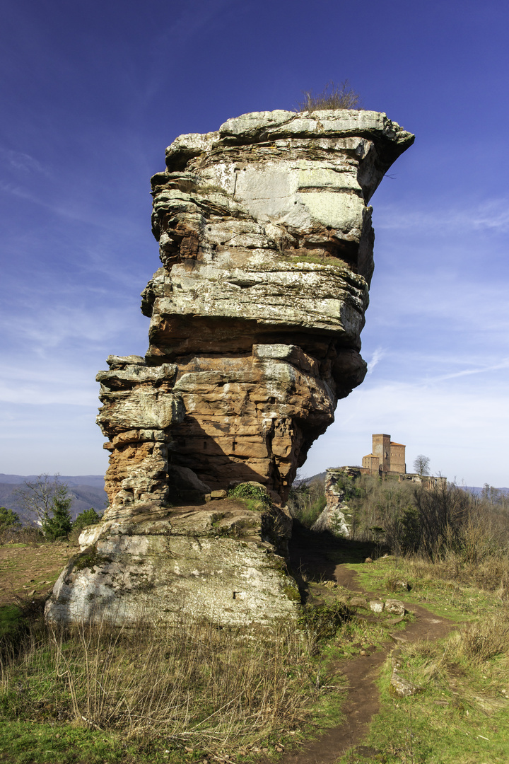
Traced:
<svg viewBox="0 0 509 764">
<path fill-rule="evenodd" d="M 509 761 L 509 615 L 500 593 L 443 578 L 440 565 L 404 558 L 349 565 L 379 597 L 423 604 L 458 623 L 437 642 L 401 646 L 402 675 L 422 691 L 389 692 L 391 665 L 379 679 L 380 713 L 362 741 L 385 764 L 505 764 Z M 434 571 L 434 577 L 433 577 Z M 395 577 L 411 591 L 391 591 Z M 462 622 L 462 623 L 460 623 Z M 378 752 L 378 753 L 376 753 Z M 338 764 L 365 764 L 356 748 Z"/>
</svg>

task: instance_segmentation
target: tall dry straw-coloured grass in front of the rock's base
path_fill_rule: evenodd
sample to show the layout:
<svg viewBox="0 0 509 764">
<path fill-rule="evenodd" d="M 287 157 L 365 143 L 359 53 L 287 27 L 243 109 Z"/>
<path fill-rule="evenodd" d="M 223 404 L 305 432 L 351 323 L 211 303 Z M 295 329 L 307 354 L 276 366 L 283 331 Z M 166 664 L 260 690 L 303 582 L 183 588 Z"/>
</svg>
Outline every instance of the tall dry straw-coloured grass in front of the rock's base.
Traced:
<svg viewBox="0 0 509 764">
<path fill-rule="evenodd" d="M 242 635 L 179 619 L 136 629 L 39 626 L 2 659 L 8 717 L 214 749 L 300 725 L 314 692 L 301 632 Z M 21 689 L 20 689 L 21 688 Z"/>
</svg>

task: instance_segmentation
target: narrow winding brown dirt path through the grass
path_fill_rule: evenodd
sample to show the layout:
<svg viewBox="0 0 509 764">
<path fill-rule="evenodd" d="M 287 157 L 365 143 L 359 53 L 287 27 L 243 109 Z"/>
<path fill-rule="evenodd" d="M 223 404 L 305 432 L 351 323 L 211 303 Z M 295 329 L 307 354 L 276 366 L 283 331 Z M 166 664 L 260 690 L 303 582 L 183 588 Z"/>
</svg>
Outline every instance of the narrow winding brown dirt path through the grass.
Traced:
<svg viewBox="0 0 509 764">
<path fill-rule="evenodd" d="M 297 553 L 307 570 L 316 568 L 319 575 L 324 575 L 324 567 L 327 567 L 327 578 L 332 578 L 344 588 L 356 593 L 368 594 L 356 580 L 356 572 L 346 568 L 344 564 L 328 565 L 323 556 L 318 554 L 317 549 L 310 549 L 310 554 L 301 544 L 296 545 Z M 295 549 L 294 549 L 295 552 Z M 398 642 L 414 642 L 417 639 L 440 639 L 446 636 L 455 627 L 455 623 L 430 613 L 424 607 L 416 604 L 405 603 L 406 609 L 414 613 L 415 620 L 408 624 L 406 629 L 398 631 Z M 345 720 L 339 727 L 326 730 L 317 740 L 304 743 L 300 749 L 285 753 L 282 756 L 283 764 L 333 764 L 340 756 L 349 749 L 356 748 L 356 753 L 366 756 L 369 761 L 376 753 L 367 746 L 362 746 L 362 740 L 369 730 L 372 717 L 379 711 L 379 691 L 375 685 L 379 677 L 385 659 L 395 647 L 394 639 L 388 639 L 382 649 L 369 653 L 365 656 L 357 656 L 355 659 L 347 659 L 337 664 L 337 670 L 346 678 L 349 687 L 346 702 L 343 706 Z"/>
</svg>

